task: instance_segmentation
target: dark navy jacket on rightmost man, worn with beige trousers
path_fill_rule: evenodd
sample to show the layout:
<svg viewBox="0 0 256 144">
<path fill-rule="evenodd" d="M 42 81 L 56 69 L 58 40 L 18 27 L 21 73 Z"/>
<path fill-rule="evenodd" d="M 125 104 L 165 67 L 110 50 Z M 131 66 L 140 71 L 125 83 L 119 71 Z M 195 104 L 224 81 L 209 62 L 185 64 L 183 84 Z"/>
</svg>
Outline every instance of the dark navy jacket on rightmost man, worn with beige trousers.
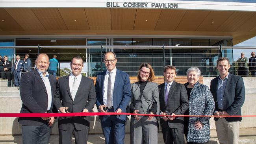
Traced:
<svg viewBox="0 0 256 144">
<path fill-rule="evenodd" d="M 219 111 L 217 103 L 217 87 L 219 76 L 211 80 L 211 94 L 213 95 L 215 102 L 214 111 Z M 233 74 L 228 75 L 228 81 L 224 90 L 223 96 L 223 111 L 226 111 L 229 115 L 241 115 L 241 107 L 245 102 L 245 85 L 241 76 L 235 76 Z M 214 117 L 217 121 L 218 118 Z M 227 121 L 232 122 L 236 120 L 242 120 L 242 117 L 227 117 Z"/>
</svg>

